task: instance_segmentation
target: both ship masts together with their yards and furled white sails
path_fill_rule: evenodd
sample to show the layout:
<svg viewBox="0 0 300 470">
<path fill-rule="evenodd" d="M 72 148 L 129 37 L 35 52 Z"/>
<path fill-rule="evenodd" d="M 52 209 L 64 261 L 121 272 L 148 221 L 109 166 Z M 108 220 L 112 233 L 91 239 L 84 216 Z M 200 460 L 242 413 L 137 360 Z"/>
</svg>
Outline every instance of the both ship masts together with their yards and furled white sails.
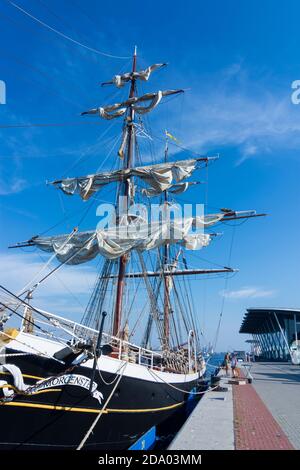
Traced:
<svg viewBox="0 0 300 470">
<path fill-rule="evenodd" d="M 147 198 L 157 197 L 163 195 L 162 200 L 165 203 L 166 211 L 168 211 L 169 197 L 170 194 L 181 194 L 189 189 L 191 185 L 200 184 L 199 181 L 187 181 L 190 176 L 194 173 L 196 169 L 199 168 L 201 163 L 208 164 L 210 160 L 215 160 L 218 157 L 204 157 L 204 156 L 194 156 L 193 158 L 179 160 L 179 161 L 167 161 L 168 160 L 168 139 L 166 139 L 165 147 L 165 161 L 164 163 L 155 163 L 147 166 L 134 166 L 135 160 L 135 145 L 137 138 L 137 131 L 135 127 L 137 124 L 134 123 L 135 115 L 144 115 L 154 108 L 156 108 L 162 98 L 172 95 L 177 95 L 183 93 L 184 90 L 164 90 L 157 91 L 152 93 L 146 93 L 142 96 L 137 96 L 136 92 L 136 82 L 139 80 L 148 81 L 151 73 L 154 70 L 164 67 L 165 63 L 153 64 L 147 67 L 145 70 L 136 71 L 136 62 L 137 62 L 137 53 L 136 48 L 133 55 L 132 62 L 132 71 L 129 73 L 124 73 L 122 75 L 115 75 L 113 79 L 109 82 L 104 83 L 103 85 L 113 84 L 117 88 L 122 88 L 129 84 L 130 82 L 130 92 L 129 97 L 126 101 L 115 103 L 112 105 L 99 106 L 97 108 L 84 111 L 83 115 L 96 115 L 106 120 L 111 120 L 115 118 L 125 117 L 123 123 L 123 136 L 122 144 L 118 151 L 119 157 L 123 160 L 123 165 L 121 169 L 117 169 L 110 172 L 100 172 L 85 176 L 72 177 L 72 178 L 63 178 L 61 180 L 56 180 L 52 184 L 57 188 L 63 191 L 66 195 L 75 195 L 78 194 L 82 200 L 87 201 L 95 193 L 100 191 L 104 186 L 110 183 L 118 183 L 118 192 L 125 196 L 122 202 L 118 201 L 118 215 L 116 233 L 118 234 L 118 226 L 120 224 L 128 223 L 131 224 L 131 228 L 134 228 L 134 220 L 129 217 L 124 218 L 124 214 L 128 215 L 128 208 L 134 202 L 134 191 L 132 178 L 135 178 L 138 185 L 140 183 L 144 184 L 144 187 L 139 189 L 137 185 L 137 190 L 140 191 L 140 194 L 146 196 Z M 140 131 L 141 132 L 141 131 Z M 166 137 L 169 134 L 166 132 Z M 172 137 L 172 136 L 170 136 Z M 174 139 L 174 138 L 173 138 Z M 176 139 L 174 139 L 176 140 Z M 125 207 L 126 201 L 126 207 Z M 122 211 L 120 210 L 120 205 L 123 205 Z M 123 209 L 124 212 L 123 212 Z M 122 216 L 121 216 L 122 214 Z M 169 221 L 166 224 L 166 227 L 172 230 L 174 224 L 179 230 L 181 236 L 178 237 L 178 240 L 172 239 L 163 242 L 161 237 L 163 236 L 164 227 L 156 227 L 156 232 L 154 234 L 149 233 L 147 227 L 147 232 L 141 232 L 141 236 L 133 237 L 128 240 L 123 240 L 122 237 L 114 236 L 109 233 L 109 230 L 99 229 L 90 230 L 85 232 L 78 232 L 78 230 L 73 230 L 70 234 L 55 235 L 50 237 L 40 237 L 35 236 L 26 242 L 21 242 L 15 245 L 15 247 L 22 246 L 36 246 L 39 249 L 46 251 L 48 253 L 53 253 L 53 257 L 56 257 L 60 262 L 60 265 L 56 267 L 51 273 L 44 276 L 44 278 L 35 284 L 33 287 L 36 288 L 43 282 L 47 277 L 49 277 L 53 272 L 59 269 L 64 264 L 78 265 L 93 260 L 96 256 L 101 255 L 106 258 L 107 263 L 105 263 L 102 273 L 99 277 L 101 280 L 101 286 L 103 281 L 103 288 L 101 287 L 100 293 L 97 287 L 95 291 L 97 292 L 96 301 L 91 302 L 91 313 L 89 312 L 89 306 L 87 307 L 86 313 L 89 322 L 92 318 L 97 320 L 99 319 L 99 313 L 102 311 L 103 300 L 105 297 L 108 280 L 112 279 L 115 282 L 117 280 L 116 290 L 113 297 L 113 305 L 111 303 L 108 305 L 109 311 L 112 314 L 112 333 L 114 336 L 123 336 L 125 339 L 126 332 L 128 333 L 127 325 L 124 325 L 122 322 L 122 316 L 124 315 L 124 305 L 123 298 L 125 293 L 125 283 L 126 279 L 139 279 L 143 278 L 146 284 L 146 290 L 150 298 L 150 316 L 149 319 L 149 328 L 147 327 L 147 338 L 151 332 L 152 320 L 155 320 L 158 327 L 159 337 L 161 339 L 161 345 L 166 353 L 170 352 L 172 349 L 173 337 L 170 334 L 170 324 L 171 319 L 175 323 L 175 314 L 178 312 L 183 316 L 185 312 L 182 311 L 182 306 L 177 299 L 177 310 L 174 310 L 171 307 L 171 295 L 172 290 L 175 292 L 175 297 L 177 298 L 177 293 L 175 289 L 175 283 L 173 280 L 174 276 L 189 276 L 196 274 L 216 274 L 216 273 L 230 273 L 233 272 L 231 268 L 223 267 L 218 269 L 188 269 L 187 266 L 184 270 L 177 269 L 178 257 L 181 253 L 181 249 L 178 251 L 177 256 L 175 257 L 175 263 L 170 263 L 170 247 L 174 244 L 180 244 L 184 248 L 197 250 L 204 246 L 207 246 L 210 241 L 218 234 L 209 233 L 205 234 L 200 231 L 200 233 L 190 234 L 190 230 L 193 227 L 202 227 L 203 231 L 206 228 L 209 228 L 220 222 L 226 222 L 229 220 L 237 219 L 248 219 L 251 217 L 258 217 L 263 214 L 256 214 L 255 211 L 233 211 L 231 209 L 221 209 L 217 214 L 208 214 L 201 217 L 190 217 L 186 221 L 187 224 L 179 227 L 177 221 Z M 177 224 L 177 225 L 176 225 Z M 147 225 L 147 224 L 146 224 Z M 163 225 L 163 224 L 162 224 Z M 143 234 L 147 233 L 146 237 Z M 107 243 L 108 240 L 108 243 Z M 147 270 L 144 260 L 143 260 L 143 251 L 153 250 L 158 248 L 159 252 L 159 268 L 157 271 L 150 272 Z M 131 251 L 135 250 L 138 253 L 140 264 L 142 267 L 142 272 L 132 271 L 128 272 L 127 263 L 129 256 L 131 256 Z M 113 261 L 116 263 L 116 271 L 111 272 Z M 107 268 L 107 265 L 110 266 Z M 160 304 L 158 308 L 158 302 L 161 302 L 160 299 L 156 299 L 156 291 L 153 289 L 153 286 L 149 282 L 148 278 L 154 278 L 153 281 L 156 281 L 155 278 L 158 278 L 158 286 L 161 289 L 160 281 L 163 281 L 162 287 L 164 288 L 163 294 L 163 305 Z M 100 284 L 99 284 L 100 285 Z M 154 283 L 155 285 L 155 283 Z M 103 296 L 102 296 L 103 294 Z M 103 297 L 101 300 L 101 305 L 98 303 L 98 297 Z M 173 302 L 172 302 L 173 303 Z M 123 311 L 123 315 L 122 315 Z M 160 312 L 163 311 L 163 322 L 160 318 Z M 177 313 L 176 313 L 177 312 Z M 86 315 L 85 313 L 85 315 Z M 85 318 L 85 317 L 84 317 Z M 163 323 L 163 324 L 162 324 Z M 185 323 L 185 320 L 184 320 Z M 89 323 L 89 326 L 91 324 Z M 193 326 L 193 325 L 192 325 Z M 122 334 L 123 330 L 123 334 Z M 188 330 L 187 330 L 188 331 Z M 128 335 L 127 335 L 128 336 Z M 178 345 L 182 344 L 177 341 Z"/>
</svg>

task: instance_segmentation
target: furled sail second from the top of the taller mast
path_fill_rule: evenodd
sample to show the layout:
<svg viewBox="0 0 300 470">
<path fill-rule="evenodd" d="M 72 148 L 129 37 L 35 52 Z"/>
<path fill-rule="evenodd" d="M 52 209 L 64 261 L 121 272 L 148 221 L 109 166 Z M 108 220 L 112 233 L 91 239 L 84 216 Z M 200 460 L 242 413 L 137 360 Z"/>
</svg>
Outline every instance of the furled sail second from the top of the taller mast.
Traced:
<svg viewBox="0 0 300 470">
<path fill-rule="evenodd" d="M 100 106 L 99 108 L 93 108 L 89 111 L 84 111 L 81 114 L 98 114 L 104 119 L 114 119 L 116 117 L 123 116 L 129 106 L 131 106 L 136 113 L 145 114 L 149 111 L 152 111 L 152 109 L 156 108 L 156 106 L 160 103 L 162 97 L 176 95 L 178 93 L 183 93 L 183 90 L 166 90 L 157 91 L 155 93 L 146 93 L 143 96 L 134 96 L 133 98 L 129 98 L 128 100 L 123 101 L 122 103 L 115 103 L 113 105 L 103 107 Z M 148 105 L 139 106 L 139 103 L 147 102 L 149 102 Z"/>
</svg>

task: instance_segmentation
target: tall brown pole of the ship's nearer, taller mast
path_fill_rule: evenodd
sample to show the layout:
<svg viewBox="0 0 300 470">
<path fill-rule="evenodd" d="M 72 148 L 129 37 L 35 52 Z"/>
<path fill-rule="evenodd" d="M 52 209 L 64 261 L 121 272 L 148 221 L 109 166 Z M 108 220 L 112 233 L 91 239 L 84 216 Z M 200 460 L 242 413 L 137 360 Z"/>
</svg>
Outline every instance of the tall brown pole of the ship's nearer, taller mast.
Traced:
<svg viewBox="0 0 300 470">
<path fill-rule="evenodd" d="M 132 78 L 131 78 L 131 86 L 129 92 L 129 98 L 133 98 L 135 95 L 135 78 L 134 72 L 136 72 L 136 55 L 137 55 L 137 47 L 134 48 L 133 53 L 133 61 L 132 61 Z M 128 131 L 128 144 L 127 144 L 127 156 L 124 161 L 124 168 L 130 168 L 132 166 L 132 159 L 133 159 L 133 146 L 134 146 L 134 127 L 133 127 L 133 120 L 134 120 L 134 109 L 131 106 L 129 110 L 129 116 L 127 118 L 127 131 Z M 129 196 L 129 188 L 130 182 L 126 180 L 124 183 L 124 196 L 126 197 L 126 201 L 128 201 Z M 122 304 L 123 304 L 123 292 L 124 292 L 124 284 L 125 284 L 125 273 L 126 273 L 126 264 L 127 264 L 128 255 L 125 254 L 121 256 L 119 261 L 119 274 L 118 274 L 118 283 L 117 283 L 117 293 L 116 293 L 116 304 L 115 304 L 115 313 L 114 313 L 114 320 L 113 320 L 113 336 L 118 336 L 120 333 L 120 326 L 121 326 L 121 316 L 122 316 Z"/>
</svg>

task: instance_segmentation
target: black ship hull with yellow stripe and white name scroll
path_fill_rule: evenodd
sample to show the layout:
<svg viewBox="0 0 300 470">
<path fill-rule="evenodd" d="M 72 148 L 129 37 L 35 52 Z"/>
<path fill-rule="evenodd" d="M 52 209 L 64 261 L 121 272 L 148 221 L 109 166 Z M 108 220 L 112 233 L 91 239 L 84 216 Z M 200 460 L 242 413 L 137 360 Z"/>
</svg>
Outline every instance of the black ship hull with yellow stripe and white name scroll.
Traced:
<svg viewBox="0 0 300 470">
<path fill-rule="evenodd" d="M 66 370 L 53 359 L 37 355 L 14 357 L 18 351 L 9 349 L 6 353 L 12 354 L 9 363 L 18 366 L 26 385 L 34 386 L 47 377 L 49 381 L 37 385 L 30 395 L 25 392 L 11 401 L 0 402 L 0 449 L 76 449 L 120 375 L 97 370 L 93 380 L 96 391 L 91 393 L 90 367 Z M 138 367 L 147 371 L 144 366 Z M 153 380 L 144 380 L 124 372 L 85 449 L 128 449 L 149 428 L 182 407 L 188 392 L 197 385 L 195 374 L 188 381 L 188 376 L 182 375 L 182 382 L 171 385 L 158 381 L 155 370 L 151 374 Z M 11 386 L 14 383 L 7 372 L 2 372 L 0 379 Z"/>
</svg>

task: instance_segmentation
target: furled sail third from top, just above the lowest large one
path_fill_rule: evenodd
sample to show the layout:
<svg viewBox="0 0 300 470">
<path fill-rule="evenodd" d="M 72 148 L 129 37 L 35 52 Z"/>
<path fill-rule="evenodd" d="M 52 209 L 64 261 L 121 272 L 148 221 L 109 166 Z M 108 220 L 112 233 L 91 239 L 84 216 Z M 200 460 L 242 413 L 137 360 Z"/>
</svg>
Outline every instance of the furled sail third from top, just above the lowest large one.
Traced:
<svg viewBox="0 0 300 470">
<path fill-rule="evenodd" d="M 180 183 L 190 177 L 199 160 L 203 160 L 203 158 L 121 169 L 78 178 L 66 178 L 54 181 L 52 184 L 65 194 L 79 194 L 83 200 L 89 199 L 92 194 L 99 191 L 106 184 L 124 181 L 131 176 L 141 178 L 150 186 L 150 190 L 157 194 L 169 188 L 172 189 L 172 187 L 174 192 L 183 192 L 187 188 L 176 187 L 174 183 Z"/>
</svg>

